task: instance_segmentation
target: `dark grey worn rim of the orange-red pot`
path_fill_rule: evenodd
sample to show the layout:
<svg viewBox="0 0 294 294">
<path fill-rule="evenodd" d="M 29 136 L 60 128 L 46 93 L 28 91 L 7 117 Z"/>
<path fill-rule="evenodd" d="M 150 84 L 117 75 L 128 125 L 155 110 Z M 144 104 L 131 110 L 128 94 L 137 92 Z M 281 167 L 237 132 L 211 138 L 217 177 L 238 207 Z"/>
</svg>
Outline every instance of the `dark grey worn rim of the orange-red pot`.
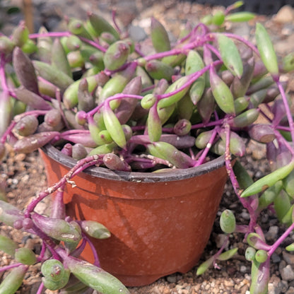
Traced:
<svg viewBox="0 0 294 294">
<path fill-rule="evenodd" d="M 68 155 L 65 155 L 64 153 L 61 153 L 61 151 L 51 144 L 47 144 L 40 149 L 46 153 L 49 158 L 52 158 L 62 165 L 65 165 L 69 169 L 76 165 L 77 160 L 71 158 Z M 124 182 L 171 182 L 204 175 L 213 170 L 218 170 L 223 166 L 225 166 L 225 155 L 220 155 L 218 158 L 196 167 L 175 169 L 170 170 L 170 172 L 122 172 L 117 170 L 110 170 L 106 167 L 96 166 L 88 167 L 83 172 L 93 177 L 101 177 L 107 180 Z"/>
</svg>

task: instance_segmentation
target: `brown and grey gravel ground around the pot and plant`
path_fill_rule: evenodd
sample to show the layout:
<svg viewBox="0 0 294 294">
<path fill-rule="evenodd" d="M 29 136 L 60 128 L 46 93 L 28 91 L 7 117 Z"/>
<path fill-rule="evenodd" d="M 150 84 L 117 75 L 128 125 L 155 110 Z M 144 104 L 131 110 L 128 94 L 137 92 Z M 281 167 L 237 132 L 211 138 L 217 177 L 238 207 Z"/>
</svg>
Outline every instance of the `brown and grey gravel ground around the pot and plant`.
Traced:
<svg viewBox="0 0 294 294">
<path fill-rule="evenodd" d="M 66 11 L 67 16 L 76 16 L 84 18 L 86 13 L 84 10 L 92 9 L 93 11 L 103 11 L 104 15 L 110 15 L 112 8 L 117 8 L 117 20 L 119 25 L 127 25 L 131 35 L 135 35 L 139 40 L 148 34 L 148 24 L 150 16 L 157 17 L 165 25 L 168 25 L 172 35 L 180 33 L 180 28 L 187 21 L 196 23 L 201 16 L 211 13 L 214 8 L 202 6 L 200 4 L 191 3 L 189 1 L 107 1 L 107 0 L 89 0 L 89 1 L 45 1 L 33 0 L 34 3 L 34 25 L 35 30 L 40 25 L 45 25 L 49 30 L 64 29 L 64 21 L 62 20 L 63 12 Z M 7 4 L 4 1 L 5 5 Z M 292 8 L 281 10 L 277 16 L 257 16 L 256 21 L 260 21 L 266 25 L 274 40 L 274 45 L 278 54 L 287 54 L 294 47 L 293 31 L 294 31 L 294 13 Z M 286 11 L 286 12 L 285 12 Z M 284 14 L 283 14 L 284 13 Z M 291 14 L 292 13 L 292 14 Z M 292 15 L 292 17 L 291 17 Z M 20 16 L 8 18 L 2 28 L 2 31 L 9 33 L 16 25 Z M 285 21 L 287 20 L 287 21 Z M 239 33 L 247 38 L 252 38 L 252 29 L 255 21 L 249 25 L 231 25 L 230 29 L 235 33 Z M 293 91 L 293 76 L 290 76 L 289 91 Z M 243 163 L 247 165 L 247 169 L 254 177 L 261 177 L 265 172 L 269 171 L 269 167 L 265 164 L 264 146 L 257 143 L 249 143 L 247 151 L 251 153 L 250 157 L 243 158 Z M 37 153 L 30 155 L 18 154 L 10 151 L 8 158 L 0 166 L 1 179 L 6 182 L 6 190 L 8 199 L 13 204 L 23 207 L 30 201 L 31 197 L 45 187 L 46 178 L 42 161 Z M 49 199 L 45 200 L 38 208 L 40 212 L 45 212 L 49 203 Z M 219 211 L 230 208 L 235 211 L 237 223 L 247 223 L 248 213 L 240 206 L 239 201 L 235 198 L 227 185 L 227 189 L 220 204 Z M 218 213 L 219 217 L 220 213 Z M 221 246 L 223 237 L 220 234 L 218 225 L 218 217 L 211 233 L 211 238 L 203 254 L 201 261 L 204 261 L 211 254 L 215 253 L 217 248 Z M 266 233 L 266 240 L 271 244 L 274 242 L 278 234 L 283 233 L 285 228 L 279 225 L 276 218 L 269 213 L 261 215 L 261 224 Z M 35 239 L 29 234 L 20 234 L 16 230 L 11 230 L 1 225 L 0 233 L 13 237 L 17 242 L 26 240 L 30 246 L 38 252 L 40 250 L 40 240 Z M 282 247 L 293 242 L 293 235 L 290 235 Z M 247 244 L 242 240 L 242 235 L 233 234 L 230 238 L 228 249 L 238 247 L 237 255 L 228 261 L 221 261 L 219 269 L 208 269 L 202 276 L 196 276 L 196 267 L 187 274 L 172 274 L 170 276 L 160 278 L 150 286 L 129 288 L 132 294 L 199 294 L 199 293 L 249 293 L 250 285 L 250 268 L 251 264 L 245 260 L 244 252 Z M 2 254 L 1 265 L 9 264 L 10 257 Z M 40 283 L 39 266 L 32 266 L 30 272 L 26 276 L 25 283 L 18 291 L 21 294 L 33 294 L 37 292 L 37 286 Z M 0 276 L 1 277 L 1 276 Z M 48 290 L 46 293 L 50 293 Z M 271 280 L 269 283 L 269 294 L 294 293 L 294 255 L 283 252 L 278 248 L 272 256 L 271 260 Z"/>
</svg>

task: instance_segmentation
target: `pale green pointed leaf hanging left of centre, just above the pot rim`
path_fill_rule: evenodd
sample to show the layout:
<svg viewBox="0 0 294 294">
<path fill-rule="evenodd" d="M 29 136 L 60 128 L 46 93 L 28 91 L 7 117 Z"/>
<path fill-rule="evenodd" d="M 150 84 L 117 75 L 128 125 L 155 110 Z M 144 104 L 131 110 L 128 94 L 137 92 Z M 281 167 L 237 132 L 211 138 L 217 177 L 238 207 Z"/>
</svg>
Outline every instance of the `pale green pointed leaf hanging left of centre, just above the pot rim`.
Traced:
<svg viewBox="0 0 294 294">
<path fill-rule="evenodd" d="M 125 148 L 127 141 L 124 136 L 124 130 L 122 129 L 122 125 L 119 123 L 119 119 L 117 119 L 117 116 L 107 103 L 104 105 L 103 119 L 105 127 L 107 131 L 109 131 L 112 140 L 117 143 L 119 147 Z"/>
</svg>

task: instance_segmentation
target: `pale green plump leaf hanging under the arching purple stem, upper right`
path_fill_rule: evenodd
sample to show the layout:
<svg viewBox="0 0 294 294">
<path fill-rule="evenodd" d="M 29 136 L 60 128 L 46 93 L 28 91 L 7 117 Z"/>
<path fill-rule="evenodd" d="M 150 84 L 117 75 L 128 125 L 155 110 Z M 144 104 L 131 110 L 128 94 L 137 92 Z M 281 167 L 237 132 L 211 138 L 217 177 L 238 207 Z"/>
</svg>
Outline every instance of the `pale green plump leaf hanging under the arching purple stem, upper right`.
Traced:
<svg viewBox="0 0 294 294">
<path fill-rule="evenodd" d="M 235 42 L 225 35 L 218 35 L 218 50 L 223 59 L 223 63 L 234 76 L 241 78 L 243 73 L 243 64 L 240 53 Z"/>
</svg>

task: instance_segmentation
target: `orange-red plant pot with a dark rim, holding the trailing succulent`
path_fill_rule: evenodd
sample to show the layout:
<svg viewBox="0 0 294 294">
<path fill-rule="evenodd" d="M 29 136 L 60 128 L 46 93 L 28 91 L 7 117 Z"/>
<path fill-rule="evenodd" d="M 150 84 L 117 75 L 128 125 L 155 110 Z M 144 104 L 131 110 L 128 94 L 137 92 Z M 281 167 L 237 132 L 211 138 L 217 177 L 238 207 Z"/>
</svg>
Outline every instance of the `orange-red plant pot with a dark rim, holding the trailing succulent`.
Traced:
<svg viewBox="0 0 294 294">
<path fill-rule="evenodd" d="M 46 146 L 40 151 L 48 184 L 76 160 Z M 208 242 L 227 172 L 223 156 L 199 167 L 171 172 L 114 172 L 90 167 L 67 184 L 69 216 L 96 220 L 111 237 L 92 240 L 102 269 L 126 286 L 143 286 L 199 261 Z M 93 262 L 90 247 L 82 257 Z"/>
</svg>

